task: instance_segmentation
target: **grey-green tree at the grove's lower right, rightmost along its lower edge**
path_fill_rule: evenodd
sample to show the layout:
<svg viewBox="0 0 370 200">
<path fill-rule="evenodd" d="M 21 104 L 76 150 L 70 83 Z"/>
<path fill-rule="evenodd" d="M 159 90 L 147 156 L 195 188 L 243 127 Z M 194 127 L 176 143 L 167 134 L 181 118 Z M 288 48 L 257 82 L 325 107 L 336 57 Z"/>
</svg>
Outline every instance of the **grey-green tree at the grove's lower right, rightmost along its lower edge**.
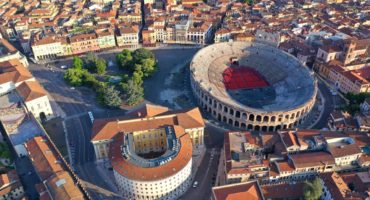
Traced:
<svg viewBox="0 0 370 200">
<path fill-rule="evenodd" d="M 144 88 L 135 83 L 133 79 L 128 80 L 127 83 L 123 83 L 122 89 L 124 91 L 124 99 L 127 105 L 135 105 L 144 99 Z"/>
</svg>

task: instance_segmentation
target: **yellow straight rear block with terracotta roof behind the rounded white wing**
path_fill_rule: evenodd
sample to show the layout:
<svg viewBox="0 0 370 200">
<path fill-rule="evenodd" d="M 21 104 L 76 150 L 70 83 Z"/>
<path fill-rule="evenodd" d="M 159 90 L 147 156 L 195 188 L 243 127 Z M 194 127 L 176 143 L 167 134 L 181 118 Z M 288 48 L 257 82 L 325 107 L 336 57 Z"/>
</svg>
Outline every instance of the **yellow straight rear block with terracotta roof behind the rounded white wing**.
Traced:
<svg viewBox="0 0 370 200">
<path fill-rule="evenodd" d="M 133 137 L 139 153 L 159 151 L 166 144 L 166 126 L 181 126 L 189 134 L 193 146 L 203 146 L 204 121 L 198 108 L 170 111 L 168 108 L 146 104 L 128 114 L 124 120 L 95 120 L 92 143 L 97 160 L 108 156 L 109 144 L 120 132 Z"/>
</svg>

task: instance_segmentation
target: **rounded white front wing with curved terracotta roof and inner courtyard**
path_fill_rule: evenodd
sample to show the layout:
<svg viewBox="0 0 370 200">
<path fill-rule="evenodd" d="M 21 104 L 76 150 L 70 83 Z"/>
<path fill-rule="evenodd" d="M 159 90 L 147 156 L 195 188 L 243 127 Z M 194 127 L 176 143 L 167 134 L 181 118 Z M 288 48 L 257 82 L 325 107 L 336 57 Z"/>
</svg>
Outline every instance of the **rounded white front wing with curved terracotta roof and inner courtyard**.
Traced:
<svg viewBox="0 0 370 200">
<path fill-rule="evenodd" d="M 192 142 L 183 128 L 166 126 L 120 137 L 111 144 L 110 157 L 124 199 L 178 199 L 187 191 Z M 154 148 L 141 145 L 148 141 Z"/>
</svg>

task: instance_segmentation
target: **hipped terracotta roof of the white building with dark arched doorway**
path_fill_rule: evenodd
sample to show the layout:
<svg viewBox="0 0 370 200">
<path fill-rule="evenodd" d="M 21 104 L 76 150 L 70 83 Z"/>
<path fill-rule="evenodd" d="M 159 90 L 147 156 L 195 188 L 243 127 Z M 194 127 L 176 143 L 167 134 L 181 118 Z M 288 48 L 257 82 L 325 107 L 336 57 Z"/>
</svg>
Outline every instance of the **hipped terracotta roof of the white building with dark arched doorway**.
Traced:
<svg viewBox="0 0 370 200">
<path fill-rule="evenodd" d="M 47 94 L 45 89 L 37 81 L 23 82 L 16 90 L 25 102 L 35 100 Z"/>
</svg>

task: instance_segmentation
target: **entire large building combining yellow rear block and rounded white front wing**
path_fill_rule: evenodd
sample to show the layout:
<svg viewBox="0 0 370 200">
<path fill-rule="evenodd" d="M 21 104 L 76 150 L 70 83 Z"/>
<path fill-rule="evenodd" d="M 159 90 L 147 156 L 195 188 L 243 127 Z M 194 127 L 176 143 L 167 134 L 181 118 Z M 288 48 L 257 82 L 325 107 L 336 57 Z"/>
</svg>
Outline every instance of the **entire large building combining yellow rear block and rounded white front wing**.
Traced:
<svg viewBox="0 0 370 200">
<path fill-rule="evenodd" d="M 128 116 L 94 121 L 97 161 L 110 161 L 124 199 L 179 199 L 191 185 L 193 153 L 203 146 L 199 109 L 145 105 Z"/>
</svg>

